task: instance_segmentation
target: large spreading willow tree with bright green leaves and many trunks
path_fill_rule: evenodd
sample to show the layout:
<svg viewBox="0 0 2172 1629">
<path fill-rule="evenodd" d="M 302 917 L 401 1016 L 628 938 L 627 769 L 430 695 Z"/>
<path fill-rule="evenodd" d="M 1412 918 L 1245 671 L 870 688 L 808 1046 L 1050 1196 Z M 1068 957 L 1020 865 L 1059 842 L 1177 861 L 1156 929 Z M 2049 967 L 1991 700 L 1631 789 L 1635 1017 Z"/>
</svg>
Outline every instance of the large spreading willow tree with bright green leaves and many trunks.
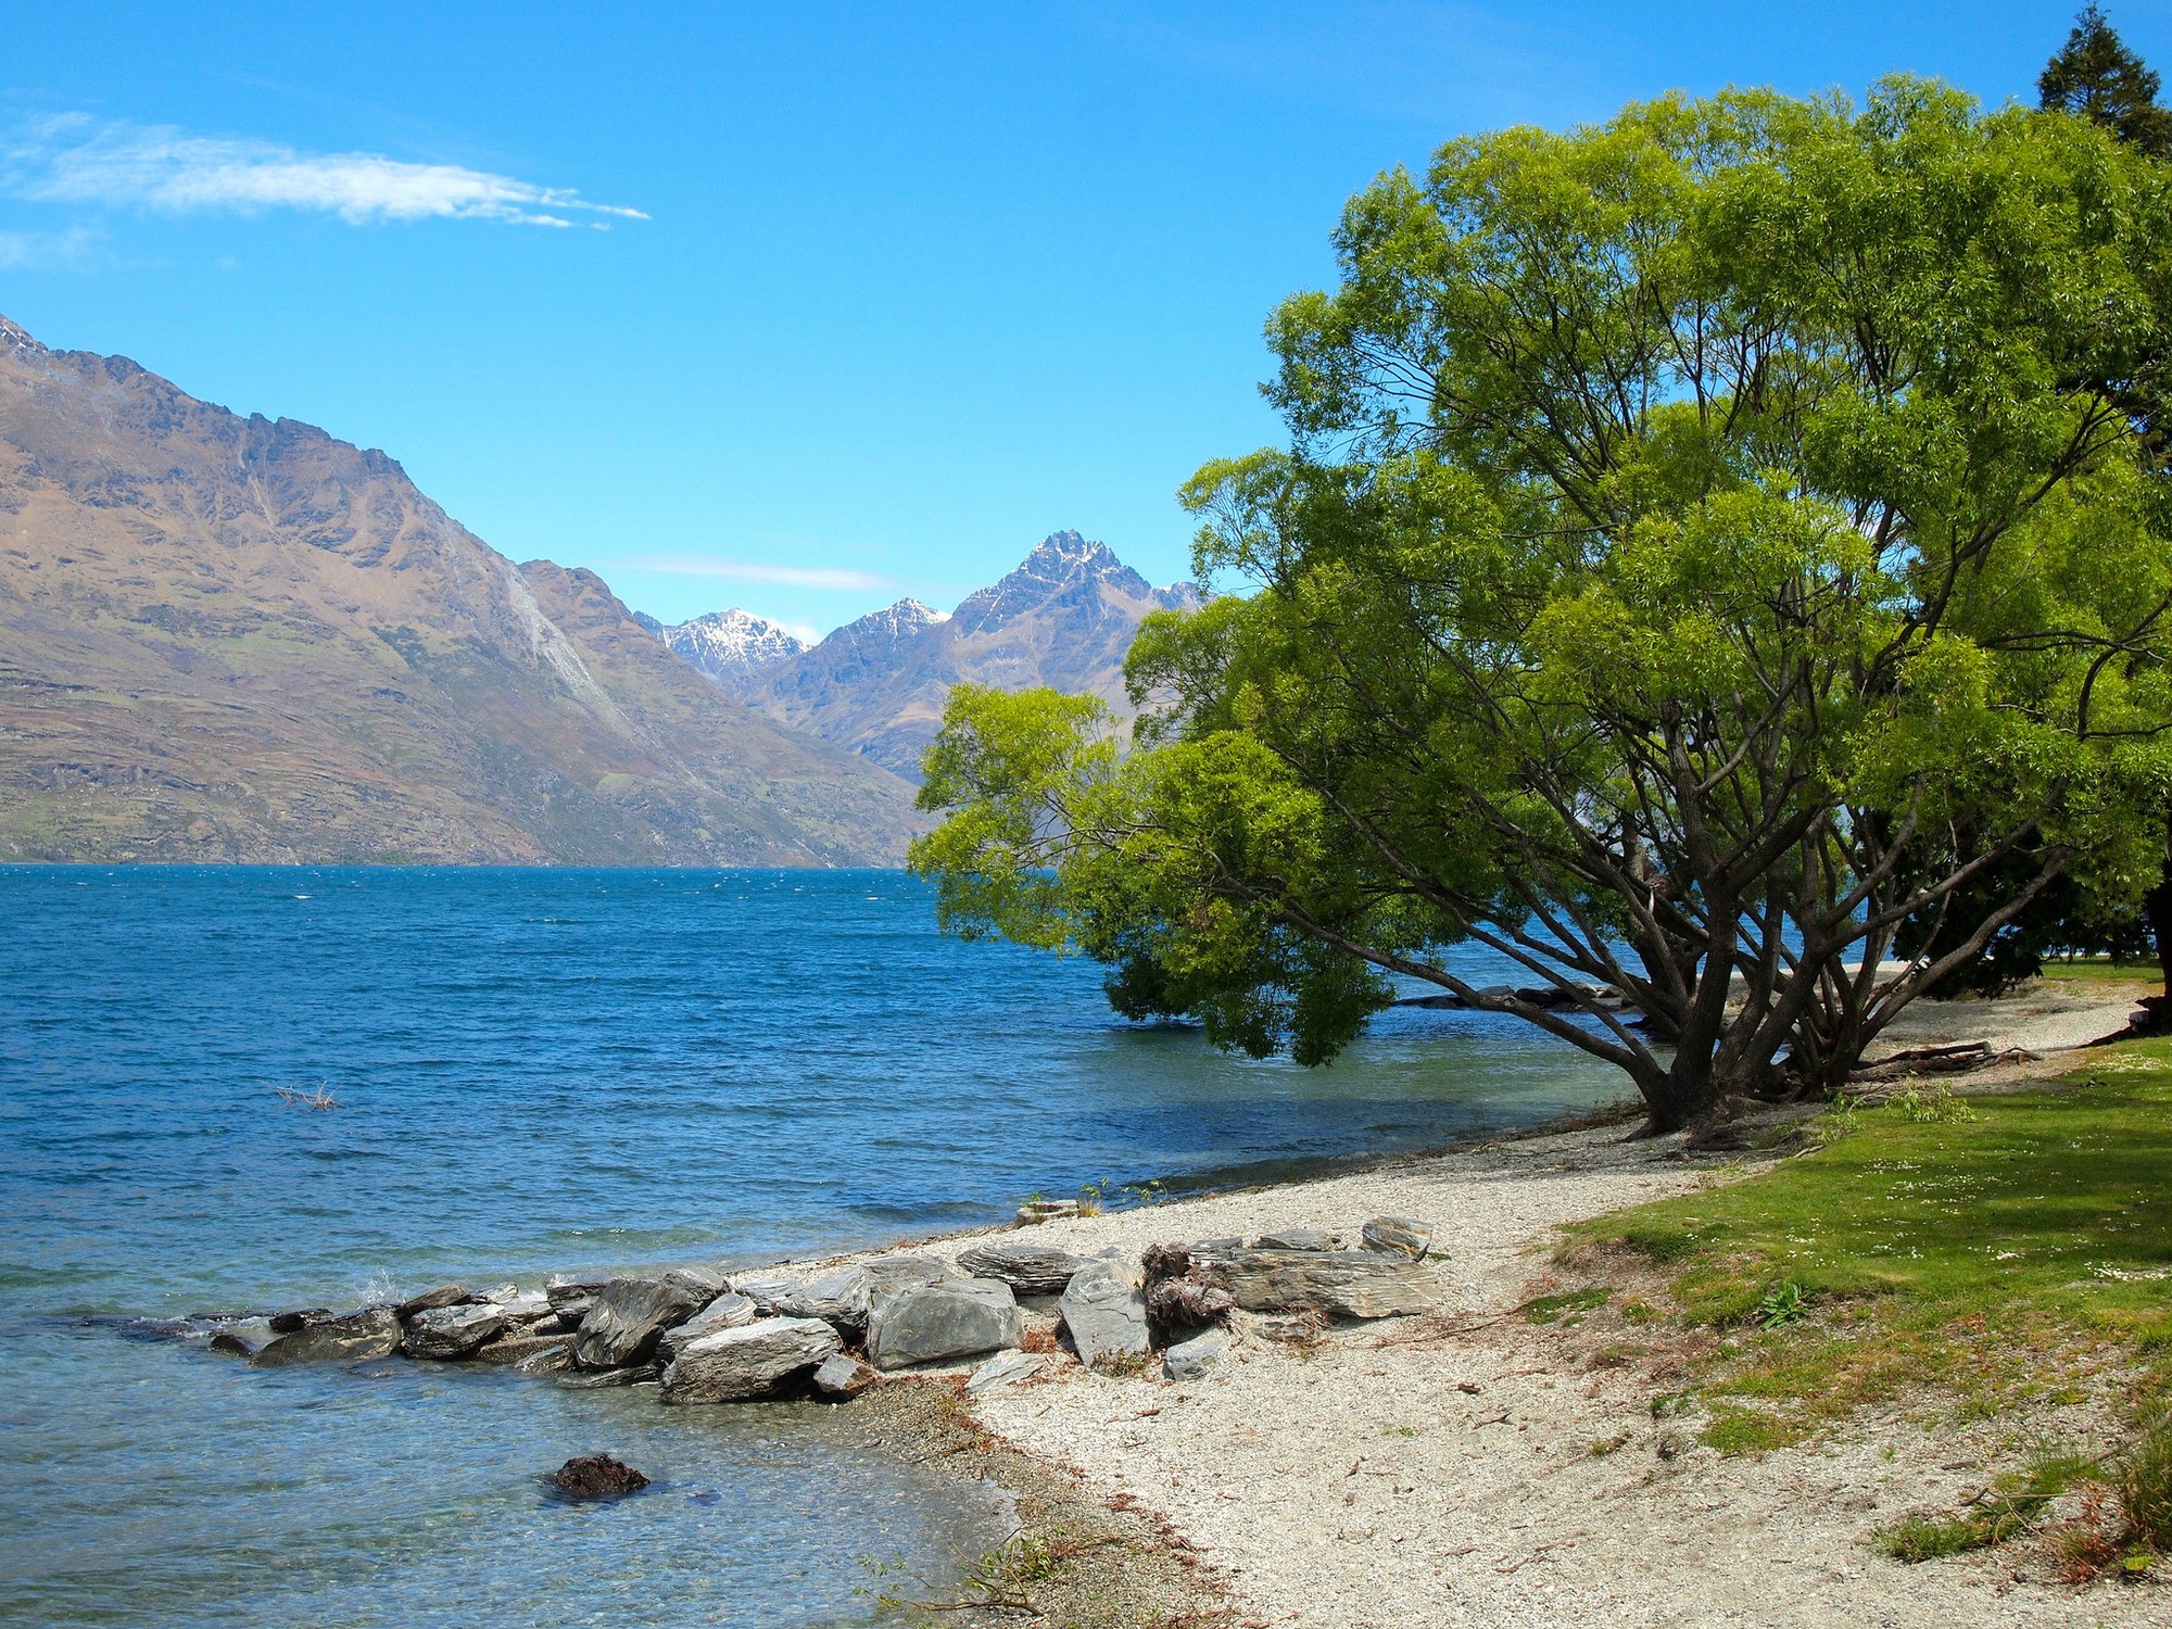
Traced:
<svg viewBox="0 0 2172 1629">
<path fill-rule="evenodd" d="M 2168 228 L 2087 122 L 1918 80 L 1381 176 L 1268 324 L 1290 445 L 1184 491 L 1232 593 L 1140 632 L 1136 743 L 951 695 L 945 925 L 1303 1062 L 1420 980 L 1653 1129 L 1835 1084 L 2053 877 L 2126 899 L 2163 854 Z M 1892 964 L 1909 923 L 1940 954 Z"/>
</svg>

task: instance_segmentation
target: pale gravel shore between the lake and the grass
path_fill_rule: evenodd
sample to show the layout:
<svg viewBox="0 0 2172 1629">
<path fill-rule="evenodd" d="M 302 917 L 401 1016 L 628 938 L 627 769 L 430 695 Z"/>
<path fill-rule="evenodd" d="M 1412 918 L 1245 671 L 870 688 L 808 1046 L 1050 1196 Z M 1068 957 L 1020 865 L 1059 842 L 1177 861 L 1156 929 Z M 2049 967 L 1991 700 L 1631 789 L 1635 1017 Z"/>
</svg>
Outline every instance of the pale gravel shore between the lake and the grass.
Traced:
<svg viewBox="0 0 2172 1629">
<path fill-rule="evenodd" d="M 1953 1003 L 1922 1008 L 1907 1043 L 2044 1049 L 2120 1016 L 2120 993 Z M 1903 1407 L 1801 1449 L 1720 1457 L 1694 1414 L 1655 1418 L 1649 1368 L 1594 1366 L 1583 1331 L 1516 1316 L 1546 1290 L 1564 1223 L 1755 1164 L 1688 1162 L 1677 1138 L 1603 1127 L 1043 1223 L 1014 1236 L 1136 1258 L 1156 1240 L 1418 1216 L 1438 1225 L 1444 1301 L 1295 1344 L 1240 1312 L 1203 1379 L 1110 1377 L 1056 1355 L 971 1407 L 1014 1449 L 1166 1523 L 1218 1575 L 1229 1622 L 2172 1625 L 2172 1588 L 2076 1592 L 2024 1546 L 1903 1566 L 1868 1542 L 1983 1488 L 2013 1455 L 2011 1420 Z M 1140 1616 L 1156 1620 L 1186 1618 Z"/>
</svg>

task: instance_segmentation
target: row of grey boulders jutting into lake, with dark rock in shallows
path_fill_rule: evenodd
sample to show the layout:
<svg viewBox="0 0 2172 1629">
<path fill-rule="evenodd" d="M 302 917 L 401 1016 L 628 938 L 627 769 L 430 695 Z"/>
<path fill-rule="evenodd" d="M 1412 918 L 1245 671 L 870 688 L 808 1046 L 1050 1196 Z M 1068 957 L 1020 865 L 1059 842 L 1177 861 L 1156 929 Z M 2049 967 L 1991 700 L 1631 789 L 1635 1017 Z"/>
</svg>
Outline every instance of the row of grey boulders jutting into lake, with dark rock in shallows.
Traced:
<svg viewBox="0 0 2172 1629">
<path fill-rule="evenodd" d="M 441 1284 L 397 1305 L 206 1314 L 204 1323 L 215 1325 L 217 1351 L 261 1368 L 404 1355 L 513 1364 L 565 1386 L 656 1381 L 669 1403 L 810 1392 L 847 1401 L 884 1373 L 932 1364 L 977 1362 L 969 1392 L 1043 1373 L 1047 1314 L 1036 1314 L 1040 1347 L 1023 1351 L 1032 1342 L 1019 1299 L 1047 1308 L 1053 1297 L 1058 1327 L 1084 1366 L 1145 1366 L 1160 1353 L 1164 1375 L 1199 1379 L 1229 1351 L 1225 1325 L 1236 1310 L 1295 1312 L 1316 1327 L 1438 1305 L 1440 1286 L 1425 1264 L 1431 1242 L 1434 1229 L 1407 1216 L 1375 1216 L 1355 1232 L 1288 1227 L 1251 1240 L 1151 1245 L 1138 1260 L 997 1238 L 960 1251 L 956 1266 L 886 1255 L 812 1273 L 682 1266 L 552 1279 L 541 1290 Z M 254 1340 L 254 1329 L 267 1338 Z M 176 1331 L 200 1334 L 193 1325 Z M 591 1464 L 569 1462 L 567 1473 Z"/>
</svg>

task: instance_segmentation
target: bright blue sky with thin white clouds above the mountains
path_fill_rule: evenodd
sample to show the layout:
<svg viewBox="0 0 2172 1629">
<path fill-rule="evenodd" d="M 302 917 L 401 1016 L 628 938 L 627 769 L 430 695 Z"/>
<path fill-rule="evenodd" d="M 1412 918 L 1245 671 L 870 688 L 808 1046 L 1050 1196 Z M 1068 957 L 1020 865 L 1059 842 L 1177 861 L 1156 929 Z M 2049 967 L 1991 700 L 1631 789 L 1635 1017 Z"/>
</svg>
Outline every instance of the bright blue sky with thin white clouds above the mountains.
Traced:
<svg viewBox="0 0 2172 1629">
<path fill-rule="evenodd" d="M 1279 439 L 1277 300 L 1455 135 L 1681 89 L 2033 100 L 2072 4 L 20 7 L 0 313 L 382 447 L 680 621 L 951 606 Z M 2172 0 L 2111 0 L 2172 67 Z"/>
</svg>

